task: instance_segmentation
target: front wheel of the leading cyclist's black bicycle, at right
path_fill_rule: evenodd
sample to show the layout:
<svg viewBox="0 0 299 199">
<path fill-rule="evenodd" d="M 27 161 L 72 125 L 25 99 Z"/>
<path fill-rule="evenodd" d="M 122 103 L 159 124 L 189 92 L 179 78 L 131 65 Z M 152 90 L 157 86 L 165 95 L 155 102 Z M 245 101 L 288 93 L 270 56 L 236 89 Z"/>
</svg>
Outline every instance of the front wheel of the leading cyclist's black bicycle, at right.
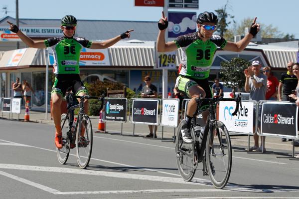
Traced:
<svg viewBox="0 0 299 199">
<path fill-rule="evenodd" d="M 232 147 L 229 133 L 220 121 L 213 123 L 212 131 L 207 136 L 206 166 L 215 188 L 222 189 L 231 173 Z"/>
</svg>

